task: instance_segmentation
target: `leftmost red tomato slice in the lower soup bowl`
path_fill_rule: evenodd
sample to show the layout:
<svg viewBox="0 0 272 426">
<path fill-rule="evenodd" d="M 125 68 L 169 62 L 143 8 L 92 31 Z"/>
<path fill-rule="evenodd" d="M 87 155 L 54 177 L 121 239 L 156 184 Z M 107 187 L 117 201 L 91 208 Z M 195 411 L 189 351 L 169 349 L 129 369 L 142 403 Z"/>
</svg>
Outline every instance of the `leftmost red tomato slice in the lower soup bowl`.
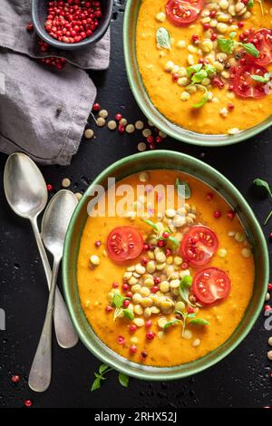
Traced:
<svg viewBox="0 0 272 426">
<path fill-rule="evenodd" d="M 107 240 L 109 257 L 116 262 L 135 259 L 141 255 L 142 247 L 141 233 L 133 227 L 114 228 Z"/>
</svg>

